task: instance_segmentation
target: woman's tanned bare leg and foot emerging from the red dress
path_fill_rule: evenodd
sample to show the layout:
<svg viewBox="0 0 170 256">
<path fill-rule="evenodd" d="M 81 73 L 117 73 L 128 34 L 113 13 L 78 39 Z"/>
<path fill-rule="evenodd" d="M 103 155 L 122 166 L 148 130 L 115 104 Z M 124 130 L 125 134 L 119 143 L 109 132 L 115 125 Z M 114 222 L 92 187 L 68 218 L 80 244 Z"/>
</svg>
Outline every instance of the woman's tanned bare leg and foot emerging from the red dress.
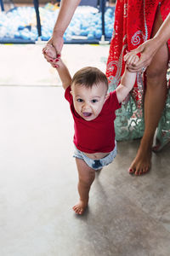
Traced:
<svg viewBox="0 0 170 256">
<path fill-rule="evenodd" d="M 160 10 L 156 15 L 152 36 L 161 26 Z M 148 172 L 151 162 L 151 148 L 156 127 L 167 98 L 167 44 L 163 45 L 154 56 L 146 70 L 146 90 L 144 96 L 144 136 L 138 153 L 129 168 L 129 173 L 141 175 Z"/>
</svg>

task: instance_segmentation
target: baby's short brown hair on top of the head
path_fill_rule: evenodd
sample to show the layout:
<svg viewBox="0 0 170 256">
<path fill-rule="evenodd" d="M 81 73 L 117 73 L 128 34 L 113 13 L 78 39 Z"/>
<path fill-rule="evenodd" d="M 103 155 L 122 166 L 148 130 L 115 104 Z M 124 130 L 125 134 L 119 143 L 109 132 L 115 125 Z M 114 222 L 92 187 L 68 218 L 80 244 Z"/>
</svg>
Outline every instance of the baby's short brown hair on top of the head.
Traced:
<svg viewBox="0 0 170 256">
<path fill-rule="evenodd" d="M 99 83 L 104 83 L 108 89 L 108 80 L 105 73 L 97 67 L 83 67 L 75 73 L 71 81 L 71 84 L 83 84 L 87 88 L 92 88 L 94 84 Z"/>
</svg>

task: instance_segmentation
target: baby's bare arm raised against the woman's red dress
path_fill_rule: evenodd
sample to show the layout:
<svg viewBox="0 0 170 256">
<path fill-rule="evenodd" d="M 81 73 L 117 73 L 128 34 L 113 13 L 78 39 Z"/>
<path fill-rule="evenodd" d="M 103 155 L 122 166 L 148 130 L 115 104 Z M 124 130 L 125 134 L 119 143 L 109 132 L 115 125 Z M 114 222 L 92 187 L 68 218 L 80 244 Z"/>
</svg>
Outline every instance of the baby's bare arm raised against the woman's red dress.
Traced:
<svg viewBox="0 0 170 256">
<path fill-rule="evenodd" d="M 126 98 L 129 91 L 133 89 L 135 80 L 136 73 L 129 72 L 127 67 L 125 67 L 125 72 L 122 75 L 121 84 L 119 84 L 116 88 L 116 96 L 119 103 L 121 103 Z"/>
</svg>

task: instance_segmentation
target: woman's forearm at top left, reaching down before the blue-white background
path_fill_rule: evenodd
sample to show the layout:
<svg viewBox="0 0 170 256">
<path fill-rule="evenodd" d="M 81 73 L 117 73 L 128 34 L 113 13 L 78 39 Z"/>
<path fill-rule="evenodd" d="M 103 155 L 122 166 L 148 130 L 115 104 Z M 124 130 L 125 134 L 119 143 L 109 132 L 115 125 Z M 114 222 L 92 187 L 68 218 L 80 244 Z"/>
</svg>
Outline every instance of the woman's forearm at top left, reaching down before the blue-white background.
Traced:
<svg viewBox="0 0 170 256">
<path fill-rule="evenodd" d="M 71 18 L 77 9 L 81 0 L 61 0 L 59 7 L 59 15 L 54 25 L 53 34 L 63 36 L 67 26 L 71 22 Z"/>
</svg>

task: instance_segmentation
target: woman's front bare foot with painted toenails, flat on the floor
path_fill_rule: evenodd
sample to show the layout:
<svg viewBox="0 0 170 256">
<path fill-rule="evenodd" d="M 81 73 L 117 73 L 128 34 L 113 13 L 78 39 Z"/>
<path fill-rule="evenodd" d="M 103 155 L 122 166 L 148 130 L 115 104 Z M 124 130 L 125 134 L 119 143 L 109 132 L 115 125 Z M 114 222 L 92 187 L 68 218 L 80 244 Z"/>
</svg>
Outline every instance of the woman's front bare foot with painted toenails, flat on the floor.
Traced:
<svg viewBox="0 0 170 256">
<path fill-rule="evenodd" d="M 149 172 L 151 165 L 151 147 L 141 143 L 139 146 L 138 153 L 133 160 L 128 172 L 134 175 L 142 175 Z"/>
</svg>

